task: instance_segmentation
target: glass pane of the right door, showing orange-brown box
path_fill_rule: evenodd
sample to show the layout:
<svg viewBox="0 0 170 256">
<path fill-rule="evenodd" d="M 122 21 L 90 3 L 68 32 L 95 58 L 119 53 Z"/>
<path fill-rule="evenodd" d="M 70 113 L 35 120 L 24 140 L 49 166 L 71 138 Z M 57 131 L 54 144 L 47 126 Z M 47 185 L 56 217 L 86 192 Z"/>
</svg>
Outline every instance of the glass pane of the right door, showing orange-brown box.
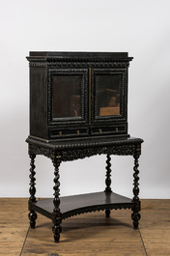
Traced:
<svg viewBox="0 0 170 256">
<path fill-rule="evenodd" d="M 96 115 L 120 115 L 120 74 L 96 75 Z"/>
</svg>

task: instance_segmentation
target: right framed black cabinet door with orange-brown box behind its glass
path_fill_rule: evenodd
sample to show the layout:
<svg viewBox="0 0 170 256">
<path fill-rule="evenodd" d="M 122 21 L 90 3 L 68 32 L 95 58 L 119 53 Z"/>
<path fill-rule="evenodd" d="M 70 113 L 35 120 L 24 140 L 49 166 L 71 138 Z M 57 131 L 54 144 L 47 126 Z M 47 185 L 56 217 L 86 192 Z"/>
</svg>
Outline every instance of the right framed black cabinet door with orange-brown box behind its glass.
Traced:
<svg viewBox="0 0 170 256">
<path fill-rule="evenodd" d="M 126 69 L 92 69 L 91 122 L 127 122 Z"/>
</svg>

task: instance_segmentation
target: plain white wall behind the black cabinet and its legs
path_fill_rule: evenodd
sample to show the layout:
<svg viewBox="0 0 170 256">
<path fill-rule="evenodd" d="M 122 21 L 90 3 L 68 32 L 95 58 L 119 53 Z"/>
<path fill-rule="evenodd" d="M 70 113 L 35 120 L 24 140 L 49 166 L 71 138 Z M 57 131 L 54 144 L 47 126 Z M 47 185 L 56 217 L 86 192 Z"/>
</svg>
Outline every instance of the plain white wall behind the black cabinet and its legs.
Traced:
<svg viewBox="0 0 170 256">
<path fill-rule="evenodd" d="M 128 130 L 145 140 L 140 197 L 170 198 L 170 1 L 6 0 L 0 8 L 0 197 L 28 197 L 28 56 L 128 51 Z M 53 166 L 38 156 L 37 196 L 52 196 Z M 132 196 L 131 156 L 112 156 L 112 188 Z M 61 195 L 104 189 L 105 156 L 61 165 Z"/>
</svg>

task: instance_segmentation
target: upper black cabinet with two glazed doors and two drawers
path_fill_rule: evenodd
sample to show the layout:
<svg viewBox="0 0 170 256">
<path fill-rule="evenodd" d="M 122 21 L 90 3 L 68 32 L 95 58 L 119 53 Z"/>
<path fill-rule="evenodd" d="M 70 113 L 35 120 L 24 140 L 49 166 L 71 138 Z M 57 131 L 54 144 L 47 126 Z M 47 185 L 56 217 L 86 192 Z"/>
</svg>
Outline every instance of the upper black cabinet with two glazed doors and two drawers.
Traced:
<svg viewBox="0 0 170 256">
<path fill-rule="evenodd" d="M 30 52 L 30 135 L 128 136 L 127 52 Z"/>
</svg>

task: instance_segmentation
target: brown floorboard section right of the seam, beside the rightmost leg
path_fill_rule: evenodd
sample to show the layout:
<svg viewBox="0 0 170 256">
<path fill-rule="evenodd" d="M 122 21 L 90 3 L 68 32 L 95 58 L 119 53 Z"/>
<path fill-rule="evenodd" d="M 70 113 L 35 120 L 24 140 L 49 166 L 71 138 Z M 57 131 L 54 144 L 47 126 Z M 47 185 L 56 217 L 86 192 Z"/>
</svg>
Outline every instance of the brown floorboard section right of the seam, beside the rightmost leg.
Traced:
<svg viewBox="0 0 170 256">
<path fill-rule="evenodd" d="M 142 200 L 140 232 L 148 256 L 170 255 L 170 200 Z"/>
</svg>

